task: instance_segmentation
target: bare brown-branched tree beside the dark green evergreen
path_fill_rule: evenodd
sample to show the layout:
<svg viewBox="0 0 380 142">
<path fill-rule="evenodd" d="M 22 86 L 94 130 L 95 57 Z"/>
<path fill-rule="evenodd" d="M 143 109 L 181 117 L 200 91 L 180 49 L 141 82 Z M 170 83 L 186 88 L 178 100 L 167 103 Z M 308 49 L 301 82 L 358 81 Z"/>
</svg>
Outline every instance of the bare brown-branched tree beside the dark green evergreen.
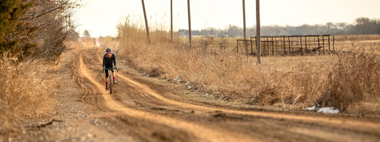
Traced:
<svg viewBox="0 0 380 142">
<path fill-rule="evenodd" d="M 27 0 L 34 6 L 21 18 L 27 27 L 36 28 L 33 42 L 38 43 L 36 54 L 52 60 L 66 48 L 64 41 L 75 34 L 71 24 L 73 11 L 81 6 L 80 1 L 71 0 Z"/>
</svg>

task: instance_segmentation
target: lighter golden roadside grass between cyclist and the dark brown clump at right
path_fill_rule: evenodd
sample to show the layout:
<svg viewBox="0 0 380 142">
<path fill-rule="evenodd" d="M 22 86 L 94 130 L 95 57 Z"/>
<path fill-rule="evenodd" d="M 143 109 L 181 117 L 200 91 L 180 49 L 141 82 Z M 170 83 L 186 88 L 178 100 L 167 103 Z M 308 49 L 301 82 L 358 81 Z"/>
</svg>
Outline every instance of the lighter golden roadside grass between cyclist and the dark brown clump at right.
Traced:
<svg viewBox="0 0 380 142">
<path fill-rule="evenodd" d="M 315 102 L 323 94 L 323 85 L 318 84 L 327 77 L 321 72 L 332 68 L 321 62 L 334 62 L 335 58 L 264 58 L 263 64 L 257 65 L 255 58 L 235 53 L 189 52 L 170 45 L 133 45 L 121 55 L 127 55 L 138 68 L 160 72 L 166 78 L 180 76 L 209 94 L 222 92 L 223 99 L 260 105 Z"/>
</svg>

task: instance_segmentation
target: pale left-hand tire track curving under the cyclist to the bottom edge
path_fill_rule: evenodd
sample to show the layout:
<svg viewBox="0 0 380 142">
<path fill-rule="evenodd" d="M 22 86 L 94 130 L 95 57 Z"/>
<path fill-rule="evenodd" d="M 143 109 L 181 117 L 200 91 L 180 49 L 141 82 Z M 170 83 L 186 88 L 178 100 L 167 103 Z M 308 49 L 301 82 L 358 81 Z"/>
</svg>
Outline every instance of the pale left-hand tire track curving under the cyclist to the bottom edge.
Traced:
<svg viewBox="0 0 380 142">
<path fill-rule="evenodd" d="M 158 114 L 152 114 L 150 112 L 145 111 L 138 111 L 135 109 L 130 109 L 127 107 L 124 107 L 123 104 L 120 104 L 119 102 L 115 101 L 110 94 L 108 94 L 108 91 L 103 89 L 103 85 L 98 83 L 98 81 L 91 75 L 83 63 L 83 53 L 85 53 L 86 50 L 82 50 L 81 54 L 79 55 L 79 69 L 81 70 L 81 75 L 86 77 L 88 80 L 90 80 L 93 84 L 98 87 L 98 90 L 101 91 L 101 96 L 105 100 L 106 106 L 108 109 L 111 109 L 113 111 L 119 111 L 123 114 L 133 116 L 135 118 L 139 119 L 145 119 L 148 121 L 153 121 L 155 123 L 164 124 L 167 126 L 171 126 L 176 129 L 183 129 L 185 131 L 188 131 L 189 133 L 193 133 L 195 136 L 198 136 L 202 140 L 205 141 L 260 141 L 259 139 L 252 138 L 250 136 L 245 136 L 242 133 L 235 133 L 227 130 L 212 130 L 207 128 L 206 126 L 202 126 L 199 124 L 192 124 L 188 121 L 182 121 L 179 119 L 173 119 L 167 116 L 161 116 Z M 217 140 L 215 140 L 215 138 Z"/>
</svg>

